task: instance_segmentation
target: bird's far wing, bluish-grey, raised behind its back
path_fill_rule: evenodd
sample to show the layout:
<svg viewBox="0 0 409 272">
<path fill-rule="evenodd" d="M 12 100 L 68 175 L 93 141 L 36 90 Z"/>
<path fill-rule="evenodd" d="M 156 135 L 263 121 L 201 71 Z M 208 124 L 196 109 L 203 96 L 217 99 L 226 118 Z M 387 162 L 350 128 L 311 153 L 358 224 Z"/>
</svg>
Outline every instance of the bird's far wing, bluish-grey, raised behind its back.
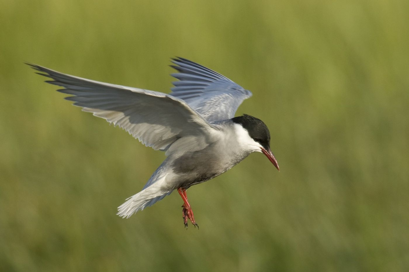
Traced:
<svg viewBox="0 0 409 272">
<path fill-rule="evenodd" d="M 174 58 L 171 65 L 179 73 L 171 76 L 171 95 L 185 100 L 206 120 L 226 120 L 234 117 L 238 106 L 252 93 L 225 76 L 185 58 Z"/>
</svg>

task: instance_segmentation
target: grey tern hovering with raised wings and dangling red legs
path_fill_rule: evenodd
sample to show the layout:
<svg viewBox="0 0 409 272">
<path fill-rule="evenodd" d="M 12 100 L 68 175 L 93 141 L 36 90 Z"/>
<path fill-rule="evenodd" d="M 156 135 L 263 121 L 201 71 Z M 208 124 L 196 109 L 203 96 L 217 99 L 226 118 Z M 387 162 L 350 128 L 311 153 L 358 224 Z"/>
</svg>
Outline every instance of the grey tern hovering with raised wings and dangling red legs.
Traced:
<svg viewBox="0 0 409 272">
<path fill-rule="evenodd" d="M 170 94 L 99 82 L 63 74 L 26 62 L 45 82 L 63 87 L 57 91 L 83 111 L 126 130 L 147 147 L 165 152 L 166 159 L 142 191 L 117 208 L 129 218 L 177 190 L 183 200 L 184 227 L 195 227 L 187 198 L 192 185 L 209 181 L 243 161 L 253 152 L 263 153 L 278 169 L 270 149 L 270 131 L 260 119 L 235 116 L 243 100 L 252 96 L 232 80 L 186 58 L 171 58 Z"/>
</svg>

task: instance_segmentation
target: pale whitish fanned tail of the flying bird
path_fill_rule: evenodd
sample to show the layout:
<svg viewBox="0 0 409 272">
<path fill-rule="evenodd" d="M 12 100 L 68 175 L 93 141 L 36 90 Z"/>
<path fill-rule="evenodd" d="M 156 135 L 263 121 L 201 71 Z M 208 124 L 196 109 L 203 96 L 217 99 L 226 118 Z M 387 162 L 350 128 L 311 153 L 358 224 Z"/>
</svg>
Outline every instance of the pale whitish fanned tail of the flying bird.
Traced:
<svg viewBox="0 0 409 272">
<path fill-rule="evenodd" d="M 156 186 L 149 186 L 141 192 L 126 199 L 126 202 L 118 207 L 117 215 L 122 218 L 129 218 L 132 214 L 135 214 L 139 210 L 143 210 L 146 207 L 152 206 L 155 202 L 160 201 L 165 196 L 171 194 L 170 192 L 164 192 L 158 190 Z"/>
</svg>

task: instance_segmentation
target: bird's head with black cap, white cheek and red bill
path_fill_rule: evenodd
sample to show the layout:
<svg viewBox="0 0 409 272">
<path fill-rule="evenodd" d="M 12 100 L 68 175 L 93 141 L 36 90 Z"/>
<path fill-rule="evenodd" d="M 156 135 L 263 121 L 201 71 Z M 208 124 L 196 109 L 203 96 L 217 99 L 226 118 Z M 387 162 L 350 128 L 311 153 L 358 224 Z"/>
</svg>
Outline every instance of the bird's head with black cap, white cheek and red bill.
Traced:
<svg viewBox="0 0 409 272">
<path fill-rule="evenodd" d="M 277 160 L 270 149 L 270 131 L 265 123 L 247 114 L 234 117 L 231 120 L 238 124 L 240 143 L 247 145 L 251 152 L 262 152 L 280 170 Z"/>
</svg>

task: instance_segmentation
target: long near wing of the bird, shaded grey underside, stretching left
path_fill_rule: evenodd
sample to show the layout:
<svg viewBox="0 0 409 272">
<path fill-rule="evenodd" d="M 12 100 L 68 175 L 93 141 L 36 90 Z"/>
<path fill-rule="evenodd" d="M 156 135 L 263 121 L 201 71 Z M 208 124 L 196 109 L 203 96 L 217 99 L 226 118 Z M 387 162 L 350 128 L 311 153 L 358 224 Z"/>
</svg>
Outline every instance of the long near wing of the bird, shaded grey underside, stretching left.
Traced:
<svg viewBox="0 0 409 272">
<path fill-rule="evenodd" d="M 206 136 L 215 127 L 180 99 L 156 91 L 98 82 L 29 64 L 62 86 L 65 99 L 119 126 L 153 149 L 167 149 L 183 136 Z"/>
</svg>

